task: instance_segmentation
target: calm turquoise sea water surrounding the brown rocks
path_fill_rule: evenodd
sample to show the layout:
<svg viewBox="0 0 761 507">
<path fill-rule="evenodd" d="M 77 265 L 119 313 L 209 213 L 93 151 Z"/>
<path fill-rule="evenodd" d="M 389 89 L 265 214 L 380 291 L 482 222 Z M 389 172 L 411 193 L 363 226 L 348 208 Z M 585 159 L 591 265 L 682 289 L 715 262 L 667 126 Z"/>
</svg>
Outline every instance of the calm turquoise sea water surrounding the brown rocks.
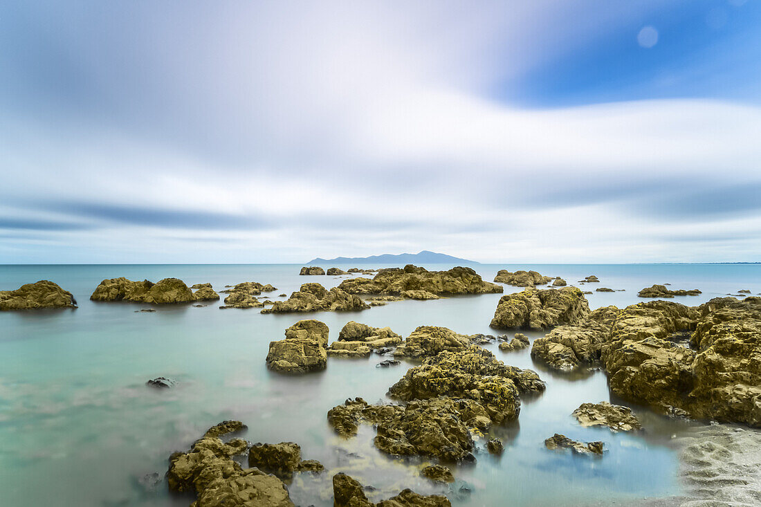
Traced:
<svg viewBox="0 0 761 507">
<path fill-rule="evenodd" d="M 546 393 L 524 399 L 517 422 L 495 429 L 505 454 L 485 451 L 477 463 L 456 467 L 458 481 L 435 486 L 419 477 L 422 461 L 400 461 L 376 451 L 374 432 L 341 440 L 326 424 L 326 412 L 347 397 L 384 399 L 410 364 L 376 368 L 369 359 L 329 359 L 321 373 L 285 377 L 267 371 L 269 341 L 281 340 L 297 320 L 314 317 L 330 327 L 330 339 L 349 320 L 390 326 L 406 336 L 424 324 L 459 333 L 492 333 L 489 321 L 500 295 L 463 296 L 438 301 L 403 301 L 356 313 L 262 315 L 259 309 L 219 310 L 173 305 L 135 313 L 143 305 L 94 303 L 89 295 L 101 279 L 177 277 L 188 285 L 212 282 L 215 289 L 237 282 L 272 283 L 290 294 L 303 282 L 337 285 L 329 276 L 298 276 L 295 265 L 134 265 L 0 266 L 0 289 L 49 279 L 77 298 L 79 308 L 0 314 L 0 491 L 2 505 L 189 505 L 172 496 L 165 483 L 142 485 L 145 474 L 163 476 L 167 457 L 184 450 L 209 426 L 240 419 L 252 442 L 295 441 L 305 459 L 318 459 L 328 473 L 296 477 L 289 485 L 298 505 L 332 505 L 330 477 L 345 471 L 378 488 L 377 498 L 403 487 L 419 493 L 445 493 L 454 505 L 586 505 L 676 496 L 677 453 L 673 437 L 686 422 L 635 407 L 648 428 L 638 435 L 581 428 L 570 414 L 579 404 L 611 400 L 600 371 L 558 375 L 534 365 L 530 349 L 500 352 L 508 364 L 534 368 Z M 324 266 L 328 267 L 328 266 Z M 379 266 L 375 266 L 379 267 Z M 446 269 L 451 266 L 427 266 Z M 698 305 L 738 289 L 761 292 L 758 265 L 479 265 L 491 280 L 498 269 L 537 269 L 562 276 L 569 285 L 595 274 L 601 283 L 625 292 L 587 296 L 592 308 L 639 301 L 636 292 L 653 283 L 673 289 L 701 289 L 697 297 L 676 298 Z M 506 292 L 519 290 L 506 287 Z M 536 338 L 541 333 L 528 333 Z M 170 390 L 145 386 L 165 376 L 179 384 Z M 619 401 L 619 400 L 613 400 Z M 578 458 L 543 448 L 560 432 L 584 441 L 603 440 L 601 459 Z M 460 491 L 465 484 L 472 493 Z"/>
</svg>

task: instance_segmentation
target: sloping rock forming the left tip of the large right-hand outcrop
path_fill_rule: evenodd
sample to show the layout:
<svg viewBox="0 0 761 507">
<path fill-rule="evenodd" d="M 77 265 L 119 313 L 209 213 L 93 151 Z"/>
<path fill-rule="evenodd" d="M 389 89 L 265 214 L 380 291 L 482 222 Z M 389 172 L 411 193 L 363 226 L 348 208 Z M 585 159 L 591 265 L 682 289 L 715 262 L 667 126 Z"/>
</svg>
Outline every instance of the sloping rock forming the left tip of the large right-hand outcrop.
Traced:
<svg viewBox="0 0 761 507">
<path fill-rule="evenodd" d="M 610 334 L 618 308 L 597 308 L 578 324 L 559 326 L 533 341 L 531 357 L 561 371 L 572 371 L 600 359 L 600 348 Z"/>
</svg>

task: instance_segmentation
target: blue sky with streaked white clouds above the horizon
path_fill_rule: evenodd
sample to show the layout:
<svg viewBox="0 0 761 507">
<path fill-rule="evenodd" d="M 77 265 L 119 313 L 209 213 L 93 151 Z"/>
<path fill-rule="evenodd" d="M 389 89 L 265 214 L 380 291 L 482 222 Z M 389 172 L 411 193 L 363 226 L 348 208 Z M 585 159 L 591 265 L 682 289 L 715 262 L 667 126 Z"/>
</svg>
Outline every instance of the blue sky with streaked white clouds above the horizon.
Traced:
<svg viewBox="0 0 761 507">
<path fill-rule="evenodd" d="M 761 2 L 0 5 L 0 263 L 761 261 Z"/>
</svg>

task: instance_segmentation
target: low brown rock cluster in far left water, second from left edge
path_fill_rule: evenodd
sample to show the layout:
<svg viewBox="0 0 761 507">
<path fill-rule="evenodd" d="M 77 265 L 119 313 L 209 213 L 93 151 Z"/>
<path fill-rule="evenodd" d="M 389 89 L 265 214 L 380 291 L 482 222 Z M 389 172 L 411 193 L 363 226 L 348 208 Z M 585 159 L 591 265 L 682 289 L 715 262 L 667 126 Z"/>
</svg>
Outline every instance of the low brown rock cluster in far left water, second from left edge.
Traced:
<svg viewBox="0 0 761 507">
<path fill-rule="evenodd" d="M 219 299 L 219 295 L 210 284 L 199 287 L 196 293 L 193 293 L 185 282 L 177 278 L 165 278 L 154 283 L 148 280 L 133 282 L 122 276 L 100 282 L 90 298 L 93 301 L 133 301 L 168 305 Z"/>
</svg>

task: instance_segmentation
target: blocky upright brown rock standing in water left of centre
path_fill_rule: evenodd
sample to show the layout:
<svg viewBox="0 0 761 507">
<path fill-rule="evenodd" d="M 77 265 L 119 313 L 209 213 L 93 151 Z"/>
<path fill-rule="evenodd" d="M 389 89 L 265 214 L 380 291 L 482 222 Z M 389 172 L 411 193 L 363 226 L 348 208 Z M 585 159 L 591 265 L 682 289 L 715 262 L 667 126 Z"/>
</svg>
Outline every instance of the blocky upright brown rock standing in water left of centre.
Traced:
<svg viewBox="0 0 761 507">
<path fill-rule="evenodd" d="M 269 343 L 267 367 L 280 373 L 308 373 L 327 365 L 327 326 L 319 320 L 301 320 L 285 330 L 285 340 Z"/>
</svg>

